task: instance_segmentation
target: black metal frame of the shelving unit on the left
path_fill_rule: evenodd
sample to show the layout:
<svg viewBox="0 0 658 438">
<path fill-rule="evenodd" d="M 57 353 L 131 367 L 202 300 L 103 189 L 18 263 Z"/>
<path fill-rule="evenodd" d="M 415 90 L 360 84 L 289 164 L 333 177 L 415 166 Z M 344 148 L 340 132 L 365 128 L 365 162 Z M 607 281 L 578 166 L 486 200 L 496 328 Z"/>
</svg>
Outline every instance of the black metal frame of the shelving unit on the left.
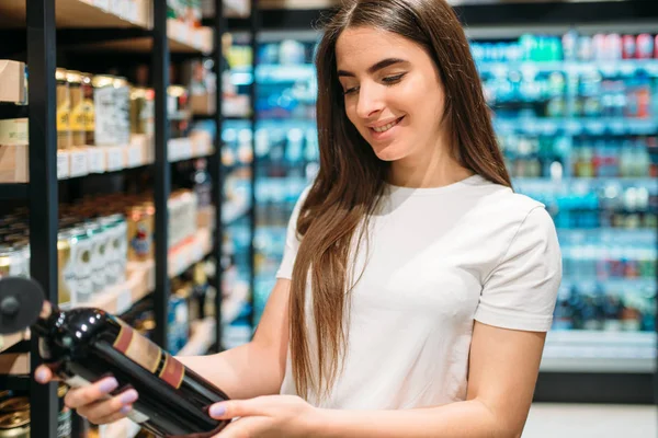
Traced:
<svg viewBox="0 0 658 438">
<path fill-rule="evenodd" d="M 30 207 L 30 245 L 31 245 L 31 275 L 38 281 L 46 298 L 52 302 L 58 301 L 57 284 L 57 233 L 59 212 L 59 184 L 57 180 L 57 130 L 56 130 L 56 80 L 57 66 L 57 36 L 65 44 L 72 36 L 81 35 L 80 30 L 65 30 L 56 26 L 56 0 L 24 0 L 26 11 L 26 47 L 27 66 L 30 67 L 30 103 L 26 107 L 10 108 L 9 113 L 1 114 L 7 117 L 26 113 L 30 122 L 30 183 L 0 184 L 0 199 L 24 200 Z M 154 203 L 156 206 L 155 228 L 155 266 L 156 291 L 154 302 L 156 311 L 156 330 L 154 339 L 160 346 L 167 345 L 167 322 L 170 279 L 168 275 L 168 199 L 171 192 L 171 166 L 168 160 L 167 145 L 168 114 L 167 89 L 169 85 L 170 47 L 167 36 L 167 0 L 152 0 L 154 26 L 152 30 L 143 28 L 93 28 L 89 30 L 93 41 L 109 41 L 122 37 L 146 36 L 152 38 L 154 50 L 150 54 L 152 70 L 152 87 L 156 92 L 155 119 L 156 119 L 156 159 L 151 165 L 154 175 Z M 223 19 L 223 1 L 215 0 L 216 9 L 213 22 L 216 27 L 213 57 L 215 66 L 220 71 L 222 34 L 226 28 Z M 149 55 L 147 55 L 149 56 Z M 186 54 L 183 58 L 203 57 L 198 54 Z M 127 59 L 133 59 L 128 57 Z M 219 74 L 218 74 L 219 76 Z M 222 108 L 222 81 L 218 82 L 216 96 L 217 108 Z M 7 108 L 7 107 L 4 107 Z M 209 155 L 209 168 L 214 177 L 215 201 L 215 245 L 213 255 L 219 262 L 222 255 L 222 112 L 217 111 L 213 119 L 217 124 L 215 136 L 215 150 Z M 222 265 L 216 264 L 216 286 L 222 285 Z M 222 339 L 222 293 L 216 295 L 216 336 L 218 345 Z M 56 384 L 42 385 L 34 380 L 34 370 L 41 365 L 38 354 L 38 339 L 30 343 L 31 374 L 30 377 L 0 376 L 2 387 L 30 391 L 31 427 L 32 436 L 39 438 L 55 438 L 57 436 L 58 399 Z M 219 347 L 220 349 L 220 347 Z"/>
</svg>

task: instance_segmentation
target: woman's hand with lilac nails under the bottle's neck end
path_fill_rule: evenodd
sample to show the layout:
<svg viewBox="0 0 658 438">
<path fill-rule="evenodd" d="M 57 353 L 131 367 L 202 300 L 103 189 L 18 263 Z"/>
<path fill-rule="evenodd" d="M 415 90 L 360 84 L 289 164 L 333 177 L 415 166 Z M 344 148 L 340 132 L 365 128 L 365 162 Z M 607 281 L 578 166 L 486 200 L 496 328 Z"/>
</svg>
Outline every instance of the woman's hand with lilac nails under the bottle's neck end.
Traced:
<svg viewBox="0 0 658 438">
<path fill-rule="evenodd" d="M 53 371 L 44 365 L 36 369 L 34 378 L 39 383 L 55 380 Z M 89 387 L 69 390 L 64 403 L 93 424 L 113 423 L 125 417 L 138 397 L 135 390 L 124 391 L 116 396 L 110 395 L 117 387 L 116 379 L 106 377 Z"/>
</svg>

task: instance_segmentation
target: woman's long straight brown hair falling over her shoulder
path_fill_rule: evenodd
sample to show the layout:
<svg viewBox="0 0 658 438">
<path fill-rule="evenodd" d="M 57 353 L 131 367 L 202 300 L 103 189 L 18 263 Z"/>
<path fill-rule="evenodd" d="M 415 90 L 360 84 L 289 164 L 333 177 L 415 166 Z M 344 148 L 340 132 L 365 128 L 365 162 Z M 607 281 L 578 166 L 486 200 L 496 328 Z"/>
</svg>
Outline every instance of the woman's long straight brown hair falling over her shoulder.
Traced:
<svg viewBox="0 0 658 438">
<path fill-rule="evenodd" d="M 316 53 L 320 169 L 297 220 L 302 243 L 291 286 L 290 347 L 297 393 L 329 394 L 340 372 L 349 310 L 348 260 L 360 224 L 367 223 L 384 193 L 389 164 L 379 160 L 348 120 L 336 65 L 336 42 L 348 27 L 368 26 L 401 35 L 426 48 L 445 92 L 444 124 L 452 153 L 466 169 L 511 187 L 489 119 L 468 42 L 445 0 L 352 0 L 324 26 Z M 365 227 L 364 229 L 367 229 Z M 309 349 L 307 281 L 317 350 Z M 314 359 L 319 366 L 314 367 Z M 339 364 L 340 362 L 340 364 Z M 315 369 L 315 372 L 314 372 Z"/>
</svg>

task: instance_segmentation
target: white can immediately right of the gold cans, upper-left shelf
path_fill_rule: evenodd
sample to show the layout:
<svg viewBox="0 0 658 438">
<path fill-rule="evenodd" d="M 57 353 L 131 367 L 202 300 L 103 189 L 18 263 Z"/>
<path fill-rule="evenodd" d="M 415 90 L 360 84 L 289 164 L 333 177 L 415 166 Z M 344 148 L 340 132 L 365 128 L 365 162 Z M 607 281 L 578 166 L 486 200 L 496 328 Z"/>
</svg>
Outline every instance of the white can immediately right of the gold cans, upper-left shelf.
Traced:
<svg viewBox="0 0 658 438">
<path fill-rule="evenodd" d="M 114 77 L 95 76 L 92 79 L 94 130 L 92 142 L 89 145 L 114 146 L 116 145 L 114 123 Z M 88 132 L 89 134 L 89 132 Z M 89 136 L 88 136 L 89 137 Z"/>
</svg>

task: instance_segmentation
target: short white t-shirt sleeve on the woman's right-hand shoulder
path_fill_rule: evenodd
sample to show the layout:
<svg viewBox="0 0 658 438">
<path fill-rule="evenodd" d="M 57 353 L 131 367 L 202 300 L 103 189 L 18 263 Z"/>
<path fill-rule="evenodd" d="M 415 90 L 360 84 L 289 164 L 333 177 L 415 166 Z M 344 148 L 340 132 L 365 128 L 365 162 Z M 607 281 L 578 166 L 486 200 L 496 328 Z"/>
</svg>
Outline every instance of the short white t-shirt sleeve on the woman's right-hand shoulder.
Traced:
<svg viewBox="0 0 658 438">
<path fill-rule="evenodd" d="M 555 224 L 544 207 L 535 207 L 485 279 L 475 320 L 503 328 L 547 332 L 560 281 Z"/>
</svg>

